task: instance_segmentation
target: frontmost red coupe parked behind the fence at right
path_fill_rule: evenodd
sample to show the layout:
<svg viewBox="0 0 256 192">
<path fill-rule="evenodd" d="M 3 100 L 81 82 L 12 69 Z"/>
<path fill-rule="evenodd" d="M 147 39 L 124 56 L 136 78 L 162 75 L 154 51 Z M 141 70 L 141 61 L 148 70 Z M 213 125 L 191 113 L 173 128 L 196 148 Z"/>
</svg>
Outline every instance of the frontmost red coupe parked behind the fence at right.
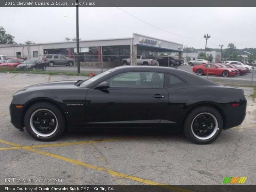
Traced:
<svg viewBox="0 0 256 192">
<path fill-rule="evenodd" d="M 194 65 L 193 72 L 197 75 L 205 75 L 207 74 L 207 68 L 209 75 L 222 75 L 223 77 L 236 75 L 235 70 L 230 68 L 221 68 L 217 64 Z"/>
</svg>

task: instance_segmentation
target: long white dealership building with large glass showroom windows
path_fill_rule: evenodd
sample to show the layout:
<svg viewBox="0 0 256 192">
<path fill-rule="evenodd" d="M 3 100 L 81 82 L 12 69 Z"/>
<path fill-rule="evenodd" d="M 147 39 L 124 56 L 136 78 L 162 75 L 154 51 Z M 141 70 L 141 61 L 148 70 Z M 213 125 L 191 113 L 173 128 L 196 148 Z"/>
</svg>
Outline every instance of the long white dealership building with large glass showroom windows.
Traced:
<svg viewBox="0 0 256 192">
<path fill-rule="evenodd" d="M 115 62 L 132 58 L 132 65 L 137 65 L 137 56 L 154 56 L 161 52 L 176 52 L 182 58 L 183 45 L 133 33 L 132 37 L 116 39 L 98 39 L 79 41 L 80 61 L 82 62 Z M 27 58 L 42 60 L 45 54 L 62 54 L 69 58 L 76 55 L 76 41 L 59 43 L 42 43 L 30 45 L 0 44 L 0 54 L 9 58 Z"/>
</svg>

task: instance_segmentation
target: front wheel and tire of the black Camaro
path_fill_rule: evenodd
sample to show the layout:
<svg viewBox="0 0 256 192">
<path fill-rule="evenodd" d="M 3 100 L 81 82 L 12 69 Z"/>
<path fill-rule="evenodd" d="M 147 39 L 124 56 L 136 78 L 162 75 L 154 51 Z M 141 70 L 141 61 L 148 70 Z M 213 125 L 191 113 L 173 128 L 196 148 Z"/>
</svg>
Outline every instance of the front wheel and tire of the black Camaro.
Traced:
<svg viewBox="0 0 256 192">
<path fill-rule="evenodd" d="M 60 109 L 48 102 L 39 102 L 28 108 L 24 124 L 27 132 L 39 141 L 56 140 L 64 132 L 66 125 Z"/>
</svg>

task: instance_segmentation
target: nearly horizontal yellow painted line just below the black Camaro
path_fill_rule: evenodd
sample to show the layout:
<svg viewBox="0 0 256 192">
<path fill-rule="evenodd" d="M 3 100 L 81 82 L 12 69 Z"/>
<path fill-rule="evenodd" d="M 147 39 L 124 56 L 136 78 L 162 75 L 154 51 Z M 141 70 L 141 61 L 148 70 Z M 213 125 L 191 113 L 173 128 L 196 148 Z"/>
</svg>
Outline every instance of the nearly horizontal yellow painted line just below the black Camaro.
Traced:
<svg viewBox="0 0 256 192">
<path fill-rule="evenodd" d="M 67 145 L 83 145 L 83 144 L 91 144 L 91 143 L 103 143 L 103 142 L 113 142 L 113 141 L 123 141 L 123 140 L 136 140 L 143 139 L 146 137 L 128 137 L 128 138 L 116 138 L 116 139 L 102 139 L 102 140 L 89 140 L 89 141 L 78 141 L 71 143 L 56 143 L 56 144 L 44 144 L 44 145 L 32 145 L 32 146 L 15 146 L 15 147 L 4 147 L 0 148 L 1 150 L 13 150 L 13 149 L 22 149 L 22 148 L 44 148 L 44 147 L 60 147 Z"/>
</svg>

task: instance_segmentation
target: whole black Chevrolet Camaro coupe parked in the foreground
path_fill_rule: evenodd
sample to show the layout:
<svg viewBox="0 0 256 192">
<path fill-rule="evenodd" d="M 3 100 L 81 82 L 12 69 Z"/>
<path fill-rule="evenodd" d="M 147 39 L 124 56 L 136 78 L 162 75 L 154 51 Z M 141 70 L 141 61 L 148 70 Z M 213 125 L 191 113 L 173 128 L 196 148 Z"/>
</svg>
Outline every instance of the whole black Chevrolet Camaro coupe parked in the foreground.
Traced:
<svg viewBox="0 0 256 192">
<path fill-rule="evenodd" d="M 198 144 L 240 125 L 246 114 L 242 89 L 222 86 L 165 67 L 125 66 L 88 80 L 32 85 L 13 95 L 12 124 L 40 141 L 65 128 L 157 127 L 183 130 Z"/>
</svg>

